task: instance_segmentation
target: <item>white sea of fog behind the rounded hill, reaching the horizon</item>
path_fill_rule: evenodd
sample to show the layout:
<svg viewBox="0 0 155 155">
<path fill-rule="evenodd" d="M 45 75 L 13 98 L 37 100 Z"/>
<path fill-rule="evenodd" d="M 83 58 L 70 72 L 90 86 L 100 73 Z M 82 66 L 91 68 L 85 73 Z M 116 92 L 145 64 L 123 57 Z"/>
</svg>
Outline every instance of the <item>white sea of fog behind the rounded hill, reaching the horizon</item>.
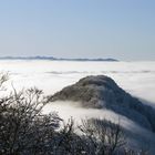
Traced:
<svg viewBox="0 0 155 155">
<path fill-rule="evenodd" d="M 155 104 L 155 62 L 78 62 L 1 60 L 0 72 L 14 87 L 37 86 L 53 94 L 86 75 L 111 76 L 131 94 Z"/>
</svg>

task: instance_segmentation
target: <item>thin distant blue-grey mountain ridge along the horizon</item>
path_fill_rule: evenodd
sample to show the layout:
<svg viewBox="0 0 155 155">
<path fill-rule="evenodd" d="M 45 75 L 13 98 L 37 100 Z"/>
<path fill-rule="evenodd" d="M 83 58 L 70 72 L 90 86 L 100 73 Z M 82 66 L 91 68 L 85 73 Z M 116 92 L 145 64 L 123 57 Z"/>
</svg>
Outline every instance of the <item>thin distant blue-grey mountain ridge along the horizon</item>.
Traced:
<svg viewBox="0 0 155 155">
<path fill-rule="evenodd" d="M 0 60 L 53 60 L 53 61 L 113 61 L 117 62 L 116 59 L 65 59 L 65 58 L 53 58 L 53 56 L 1 56 Z"/>
</svg>

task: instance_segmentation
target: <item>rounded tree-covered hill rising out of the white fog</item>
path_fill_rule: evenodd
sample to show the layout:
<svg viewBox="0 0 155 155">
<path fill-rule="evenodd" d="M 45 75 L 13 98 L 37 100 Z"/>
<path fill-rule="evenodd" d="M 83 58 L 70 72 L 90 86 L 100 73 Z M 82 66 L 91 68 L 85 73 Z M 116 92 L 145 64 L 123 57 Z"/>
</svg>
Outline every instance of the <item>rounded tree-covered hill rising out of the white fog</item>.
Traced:
<svg viewBox="0 0 155 155">
<path fill-rule="evenodd" d="M 84 107 L 108 108 L 155 132 L 155 110 L 126 93 L 105 75 L 81 79 L 50 96 L 50 101 L 75 101 Z"/>
</svg>

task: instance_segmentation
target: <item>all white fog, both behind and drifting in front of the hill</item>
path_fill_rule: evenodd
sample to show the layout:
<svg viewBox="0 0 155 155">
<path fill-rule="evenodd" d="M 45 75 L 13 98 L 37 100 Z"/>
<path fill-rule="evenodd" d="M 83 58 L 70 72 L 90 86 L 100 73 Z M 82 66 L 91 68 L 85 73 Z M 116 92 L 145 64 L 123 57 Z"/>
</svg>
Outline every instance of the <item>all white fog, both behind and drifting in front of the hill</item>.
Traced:
<svg viewBox="0 0 155 155">
<path fill-rule="evenodd" d="M 155 107 L 155 62 L 78 62 L 78 61 L 23 61 L 1 60 L 0 72 L 9 73 L 8 90 L 37 86 L 45 95 L 51 95 L 64 86 L 78 82 L 86 75 L 104 74 L 112 78 L 122 89 L 138 97 L 144 104 Z M 1 92 L 2 93 L 2 92 Z M 74 106 L 73 106 L 74 105 Z M 45 106 L 44 113 L 56 111 L 68 120 L 108 118 L 121 121 L 131 136 L 132 145 L 151 146 L 155 152 L 155 134 L 141 127 L 131 120 L 107 110 L 82 108 L 72 102 L 55 102 Z M 138 144 L 143 142 L 143 144 Z"/>
</svg>

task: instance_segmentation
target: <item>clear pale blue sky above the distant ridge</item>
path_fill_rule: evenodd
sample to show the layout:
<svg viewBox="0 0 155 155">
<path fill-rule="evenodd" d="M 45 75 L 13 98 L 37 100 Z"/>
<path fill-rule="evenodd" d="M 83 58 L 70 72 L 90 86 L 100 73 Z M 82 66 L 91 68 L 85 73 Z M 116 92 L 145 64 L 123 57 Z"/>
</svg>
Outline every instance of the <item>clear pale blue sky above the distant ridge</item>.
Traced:
<svg viewBox="0 0 155 155">
<path fill-rule="evenodd" d="M 154 0 L 0 0 L 0 56 L 155 60 Z"/>
</svg>

